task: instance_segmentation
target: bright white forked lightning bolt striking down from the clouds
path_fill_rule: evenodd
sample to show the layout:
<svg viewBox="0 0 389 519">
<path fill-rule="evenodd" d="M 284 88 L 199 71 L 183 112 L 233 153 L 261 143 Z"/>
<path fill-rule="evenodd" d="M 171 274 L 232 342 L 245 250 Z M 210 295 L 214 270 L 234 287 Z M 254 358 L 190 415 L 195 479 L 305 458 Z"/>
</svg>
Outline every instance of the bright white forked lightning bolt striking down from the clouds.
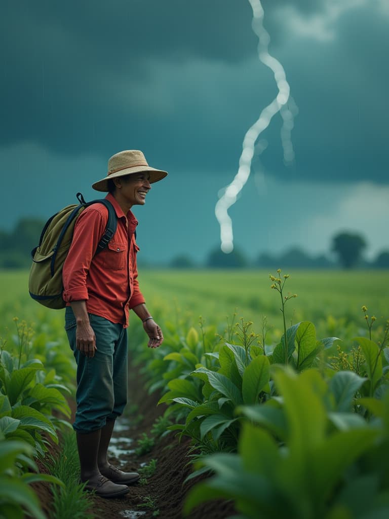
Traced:
<svg viewBox="0 0 389 519">
<path fill-rule="evenodd" d="M 228 214 L 228 209 L 237 201 L 239 193 L 250 176 L 251 163 L 254 156 L 254 146 L 258 136 L 263 132 L 263 130 L 266 130 L 273 116 L 279 112 L 283 118 L 281 140 L 284 149 L 284 162 L 285 164 L 288 164 L 294 160 L 294 151 L 290 140 L 290 133 L 294 126 L 294 116 L 298 112 L 297 106 L 290 97 L 290 87 L 286 80 L 283 66 L 269 54 L 268 47 L 270 36 L 263 26 L 264 11 L 262 4 L 260 0 L 248 0 L 248 2 L 253 9 L 253 31 L 259 39 L 258 57 L 263 64 L 273 71 L 278 93 L 276 98 L 273 99 L 266 108 L 263 108 L 254 125 L 247 130 L 243 139 L 243 149 L 239 159 L 238 173 L 235 175 L 233 181 L 226 187 L 224 193 L 216 203 L 215 215 L 220 224 L 220 248 L 225 253 L 232 252 L 233 250 L 232 221 Z"/>
</svg>

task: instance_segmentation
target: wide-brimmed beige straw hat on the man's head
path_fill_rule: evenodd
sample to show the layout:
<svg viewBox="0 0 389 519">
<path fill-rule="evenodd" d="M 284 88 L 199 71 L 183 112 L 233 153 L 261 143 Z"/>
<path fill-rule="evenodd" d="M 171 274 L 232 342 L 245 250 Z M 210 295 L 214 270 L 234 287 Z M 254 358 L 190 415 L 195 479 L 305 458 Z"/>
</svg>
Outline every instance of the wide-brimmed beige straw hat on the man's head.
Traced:
<svg viewBox="0 0 389 519">
<path fill-rule="evenodd" d="M 159 169 L 151 168 L 145 156 L 138 149 L 127 149 L 113 155 L 108 160 L 108 174 L 104 179 L 92 184 L 96 191 L 108 191 L 108 179 L 115 179 L 118 176 L 129 175 L 147 171 L 150 173 L 150 184 L 162 180 L 168 173 Z"/>
</svg>

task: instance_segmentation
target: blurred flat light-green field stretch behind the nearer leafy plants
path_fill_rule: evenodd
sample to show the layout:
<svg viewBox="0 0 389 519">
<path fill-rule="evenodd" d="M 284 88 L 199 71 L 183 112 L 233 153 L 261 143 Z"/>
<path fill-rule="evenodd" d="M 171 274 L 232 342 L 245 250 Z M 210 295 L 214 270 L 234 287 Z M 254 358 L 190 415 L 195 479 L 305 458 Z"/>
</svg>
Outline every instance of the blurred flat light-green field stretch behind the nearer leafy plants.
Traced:
<svg viewBox="0 0 389 519">
<path fill-rule="evenodd" d="M 344 338 L 365 327 L 363 305 L 369 315 L 377 317 L 377 329 L 389 318 L 387 270 L 285 270 L 282 275 L 286 273 L 290 275 L 286 293 L 298 294 L 286 306 L 289 324 L 312 321 L 319 335 Z M 223 327 L 236 312 L 238 319 L 253 321 L 256 332 L 266 316 L 276 335 L 282 333 L 280 295 L 271 290 L 267 270 L 144 269 L 139 279 L 150 311 L 162 320 L 174 323 L 184 317 L 188 324 L 197 326 L 201 316 L 206 323 Z M 33 302 L 27 281 L 26 271 L 0 272 L 3 326 L 17 316 L 27 322 L 54 322 L 59 331 L 62 311 L 47 310 Z M 130 325 L 137 326 L 137 319 L 132 318 Z"/>
</svg>

